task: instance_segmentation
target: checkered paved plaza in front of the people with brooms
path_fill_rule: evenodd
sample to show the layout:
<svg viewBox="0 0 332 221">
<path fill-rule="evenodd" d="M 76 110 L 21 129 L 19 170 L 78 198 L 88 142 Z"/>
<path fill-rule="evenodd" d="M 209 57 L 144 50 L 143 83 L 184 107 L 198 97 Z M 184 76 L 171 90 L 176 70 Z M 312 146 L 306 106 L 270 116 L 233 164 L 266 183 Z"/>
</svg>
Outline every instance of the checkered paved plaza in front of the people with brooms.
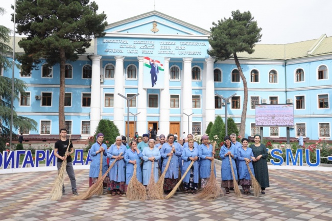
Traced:
<svg viewBox="0 0 332 221">
<path fill-rule="evenodd" d="M 217 166 L 220 182 L 220 166 Z M 77 169 L 78 192 L 88 187 L 88 170 Z M 178 192 L 169 200 L 128 201 L 106 194 L 73 200 L 68 177 L 66 195 L 50 201 L 56 171 L 0 175 L 1 220 L 332 220 L 330 171 L 269 169 L 270 187 L 258 198 L 234 192 L 214 201 Z M 240 187 L 242 189 L 242 187 Z"/>
</svg>

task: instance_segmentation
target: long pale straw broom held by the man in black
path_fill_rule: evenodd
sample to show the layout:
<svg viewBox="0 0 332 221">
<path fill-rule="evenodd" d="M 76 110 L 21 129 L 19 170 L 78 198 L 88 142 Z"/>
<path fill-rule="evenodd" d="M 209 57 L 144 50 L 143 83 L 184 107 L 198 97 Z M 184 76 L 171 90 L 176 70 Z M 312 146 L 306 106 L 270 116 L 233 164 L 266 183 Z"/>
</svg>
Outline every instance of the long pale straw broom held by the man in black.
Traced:
<svg viewBox="0 0 332 221">
<path fill-rule="evenodd" d="M 69 136 L 69 142 L 68 142 L 69 144 L 67 146 L 67 150 L 66 150 L 64 156 L 67 156 L 67 154 L 69 153 L 68 149 L 70 146 L 71 137 L 72 137 L 72 135 Z M 61 200 L 61 198 L 62 198 L 62 186 L 63 186 L 63 182 L 64 182 L 64 171 L 66 170 L 66 167 L 67 167 L 67 160 L 63 160 L 62 164 L 60 166 L 60 169 L 58 170 L 58 175 L 56 176 L 56 178 L 54 180 L 54 184 L 53 184 L 51 193 L 48 196 L 48 198 L 50 198 L 52 201 L 58 201 L 58 200 Z"/>
</svg>

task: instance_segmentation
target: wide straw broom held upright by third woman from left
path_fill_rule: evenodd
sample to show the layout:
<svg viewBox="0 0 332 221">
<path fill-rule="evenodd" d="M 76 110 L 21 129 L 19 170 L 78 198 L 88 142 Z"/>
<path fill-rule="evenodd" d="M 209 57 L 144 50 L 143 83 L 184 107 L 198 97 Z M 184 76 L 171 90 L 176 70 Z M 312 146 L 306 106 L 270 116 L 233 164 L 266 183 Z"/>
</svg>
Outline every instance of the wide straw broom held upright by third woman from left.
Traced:
<svg viewBox="0 0 332 221">
<path fill-rule="evenodd" d="M 136 177 L 137 164 L 134 164 L 134 173 L 127 187 L 127 198 L 130 201 L 145 201 L 147 199 L 147 190 Z"/>
</svg>

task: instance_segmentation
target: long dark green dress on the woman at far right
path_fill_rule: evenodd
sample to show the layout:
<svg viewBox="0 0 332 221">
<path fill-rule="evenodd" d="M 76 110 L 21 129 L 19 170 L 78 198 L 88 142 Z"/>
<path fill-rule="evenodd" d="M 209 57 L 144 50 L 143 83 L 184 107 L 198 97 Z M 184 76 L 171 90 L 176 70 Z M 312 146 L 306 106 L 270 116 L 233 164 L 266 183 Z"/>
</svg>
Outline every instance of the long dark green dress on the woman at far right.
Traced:
<svg viewBox="0 0 332 221">
<path fill-rule="evenodd" d="M 259 146 L 251 144 L 250 148 L 252 149 L 254 157 L 262 155 L 262 157 L 258 161 L 252 162 L 255 171 L 255 178 L 260 184 L 260 187 L 262 188 L 269 187 L 270 186 L 269 171 L 268 171 L 268 163 L 266 161 L 266 159 L 268 158 L 268 152 L 266 150 L 266 146 L 262 143 Z"/>
</svg>

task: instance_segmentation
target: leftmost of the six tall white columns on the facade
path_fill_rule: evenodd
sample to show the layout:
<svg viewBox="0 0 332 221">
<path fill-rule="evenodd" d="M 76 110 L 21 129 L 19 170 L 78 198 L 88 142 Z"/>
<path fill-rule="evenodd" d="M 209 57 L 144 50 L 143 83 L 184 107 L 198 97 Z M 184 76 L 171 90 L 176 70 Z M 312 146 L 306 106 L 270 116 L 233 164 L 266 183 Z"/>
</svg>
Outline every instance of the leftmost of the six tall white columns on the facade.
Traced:
<svg viewBox="0 0 332 221">
<path fill-rule="evenodd" d="M 100 59 L 102 56 L 93 55 L 91 76 L 91 103 L 90 103 L 90 136 L 96 131 L 100 121 Z"/>
</svg>

